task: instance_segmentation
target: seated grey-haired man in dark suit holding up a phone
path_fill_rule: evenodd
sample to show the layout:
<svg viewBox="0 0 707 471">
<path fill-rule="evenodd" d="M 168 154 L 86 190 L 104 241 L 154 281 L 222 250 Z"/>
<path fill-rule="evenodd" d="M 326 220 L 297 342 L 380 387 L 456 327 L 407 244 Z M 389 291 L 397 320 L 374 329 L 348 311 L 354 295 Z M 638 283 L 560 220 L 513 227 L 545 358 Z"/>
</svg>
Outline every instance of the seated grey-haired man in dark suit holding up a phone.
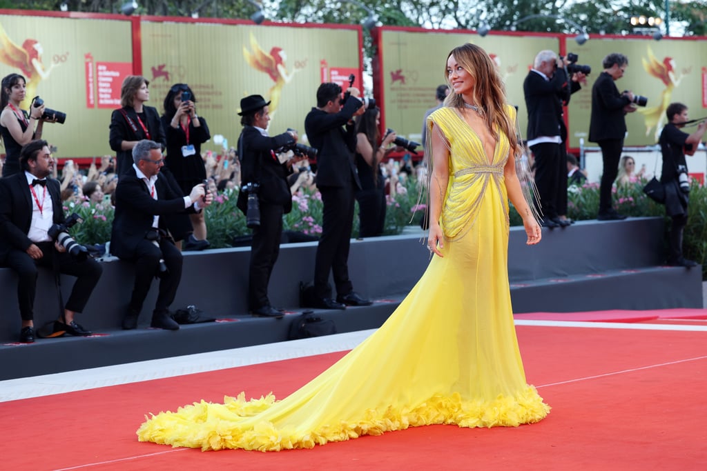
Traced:
<svg viewBox="0 0 707 471">
<path fill-rule="evenodd" d="M 133 165 L 122 175 L 115 188 L 115 217 L 110 237 L 110 251 L 118 258 L 135 263 L 135 284 L 122 321 L 125 330 L 137 327 L 142 305 L 152 278 L 160 278 L 157 302 L 151 326 L 179 329 L 170 317 L 169 306 L 175 299 L 182 278 L 182 254 L 170 236 L 165 216 L 201 210 L 213 196 L 204 184 L 181 196 L 160 174 L 164 165 L 162 146 L 146 139 L 132 150 Z"/>
</svg>

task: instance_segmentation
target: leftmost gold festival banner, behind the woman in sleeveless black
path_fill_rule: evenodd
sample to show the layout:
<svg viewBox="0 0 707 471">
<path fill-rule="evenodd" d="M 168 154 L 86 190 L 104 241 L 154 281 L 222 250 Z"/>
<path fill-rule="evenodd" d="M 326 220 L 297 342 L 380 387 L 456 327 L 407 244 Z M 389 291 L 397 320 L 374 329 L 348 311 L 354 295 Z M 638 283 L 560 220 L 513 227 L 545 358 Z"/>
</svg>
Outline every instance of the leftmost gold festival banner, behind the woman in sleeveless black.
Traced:
<svg viewBox="0 0 707 471">
<path fill-rule="evenodd" d="M 131 71 L 127 20 L 0 15 L 0 76 L 26 78 L 24 109 L 39 95 L 47 108 L 66 113 L 64 124 L 45 124 L 42 132 L 57 146 L 55 157 L 111 153 L 110 113 Z"/>
</svg>

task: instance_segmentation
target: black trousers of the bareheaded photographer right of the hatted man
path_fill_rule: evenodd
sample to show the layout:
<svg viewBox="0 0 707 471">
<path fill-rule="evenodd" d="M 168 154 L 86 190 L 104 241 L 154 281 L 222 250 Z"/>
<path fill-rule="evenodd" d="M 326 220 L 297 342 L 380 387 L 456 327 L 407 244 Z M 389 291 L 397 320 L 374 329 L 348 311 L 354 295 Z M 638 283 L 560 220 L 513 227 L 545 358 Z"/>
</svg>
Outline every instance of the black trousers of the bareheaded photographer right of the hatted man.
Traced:
<svg viewBox="0 0 707 471">
<path fill-rule="evenodd" d="M 354 189 L 351 186 L 322 186 L 322 237 L 314 266 L 314 294 L 329 297 L 329 273 L 334 274 L 337 294 L 354 290 L 349 280 L 349 247 L 354 225 Z"/>
</svg>

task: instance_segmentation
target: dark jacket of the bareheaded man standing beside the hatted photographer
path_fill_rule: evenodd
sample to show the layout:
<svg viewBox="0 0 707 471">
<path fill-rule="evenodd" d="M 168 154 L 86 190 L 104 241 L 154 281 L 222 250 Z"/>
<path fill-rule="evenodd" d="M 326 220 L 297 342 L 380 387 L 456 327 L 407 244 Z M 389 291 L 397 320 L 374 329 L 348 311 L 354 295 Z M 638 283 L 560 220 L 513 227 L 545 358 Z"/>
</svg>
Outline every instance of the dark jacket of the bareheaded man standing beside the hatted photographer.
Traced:
<svg viewBox="0 0 707 471">
<path fill-rule="evenodd" d="M 317 186 L 349 186 L 354 181 L 361 189 L 356 173 L 356 129 L 349 121 L 363 106 L 358 98 L 350 97 L 338 113 L 312 108 L 305 118 L 305 132 L 310 145 L 317 148 Z M 341 126 L 346 125 L 346 131 Z"/>
</svg>

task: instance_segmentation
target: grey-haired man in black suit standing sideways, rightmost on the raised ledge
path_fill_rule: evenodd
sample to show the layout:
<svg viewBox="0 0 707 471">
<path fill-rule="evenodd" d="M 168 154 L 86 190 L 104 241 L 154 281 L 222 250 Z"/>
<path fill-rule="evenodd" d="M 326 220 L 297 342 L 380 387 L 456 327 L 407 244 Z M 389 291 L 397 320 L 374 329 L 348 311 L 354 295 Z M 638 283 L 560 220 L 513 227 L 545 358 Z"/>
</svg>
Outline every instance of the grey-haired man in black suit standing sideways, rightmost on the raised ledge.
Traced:
<svg viewBox="0 0 707 471">
<path fill-rule="evenodd" d="M 592 117 L 589 124 L 589 140 L 602 149 L 604 170 L 599 186 L 600 221 L 626 219 L 612 206 L 612 185 L 619 174 L 619 159 L 624 149 L 626 136 L 626 113 L 636 111 L 633 93 L 619 93 L 614 81 L 624 76 L 629 59 L 624 54 L 612 52 L 602 61 L 604 71 L 592 87 Z"/>
</svg>

